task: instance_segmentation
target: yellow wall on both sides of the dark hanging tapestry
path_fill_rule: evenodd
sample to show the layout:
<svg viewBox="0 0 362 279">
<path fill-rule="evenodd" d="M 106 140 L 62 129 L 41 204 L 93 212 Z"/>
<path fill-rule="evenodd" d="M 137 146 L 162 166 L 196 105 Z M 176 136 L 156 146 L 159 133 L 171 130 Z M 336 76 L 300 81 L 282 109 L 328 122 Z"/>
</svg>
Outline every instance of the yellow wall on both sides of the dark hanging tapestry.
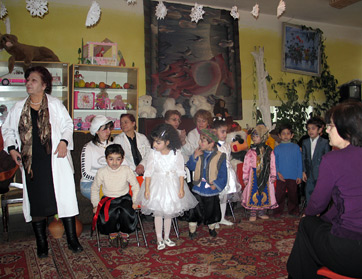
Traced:
<svg viewBox="0 0 362 279">
<path fill-rule="evenodd" d="M 100 1 L 102 16 L 100 22 L 91 28 L 85 26 L 85 20 L 91 1 L 85 0 L 50 0 L 49 13 L 43 19 L 31 17 L 25 9 L 25 1 L 5 0 L 8 15 L 11 21 L 11 33 L 18 36 L 22 43 L 30 45 L 43 45 L 52 49 L 61 61 L 70 64 L 78 63 L 78 48 L 81 40 L 102 41 L 108 38 L 118 43 L 125 57 L 127 66 L 139 68 L 139 93 L 145 94 L 145 66 L 144 66 L 144 19 L 142 1 L 135 6 L 127 6 L 125 1 Z M 77 5 L 72 4 L 77 3 Z M 267 18 L 263 22 L 263 19 Z M 269 20 L 269 22 L 268 22 Z M 283 18 L 283 21 L 288 19 Z M 271 22 L 271 23 L 270 23 Z M 291 22 L 292 23 L 292 22 Z M 320 28 L 326 38 L 326 54 L 328 64 L 339 84 L 351 79 L 362 78 L 362 41 L 353 34 L 360 34 L 361 29 L 349 29 L 309 23 L 298 22 L 313 28 Z M 281 71 L 281 41 L 282 21 L 275 17 L 260 16 L 254 20 L 249 13 L 241 14 L 239 22 L 240 60 L 242 74 L 243 117 L 242 125 L 253 125 L 251 104 L 253 95 L 257 95 L 256 76 L 254 74 L 254 59 L 251 52 L 255 46 L 263 46 L 266 70 L 278 81 L 299 78 L 301 75 Z M 342 30 L 342 31 L 340 31 Z M 347 30 L 347 32 L 345 32 Z M 0 32 L 5 33 L 4 24 L 0 24 Z M 349 35 L 349 37 L 348 37 Z M 355 38 L 353 38 L 355 37 Z M 347 38 L 347 39 L 346 39 Z M 0 60 L 7 60 L 6 52 L 0 53 Z M 308 76 L 303 76 L 308 79 Z M 322 95 L 317 95 L 321 99 Z M 275 94 L 269 88 L 271 103 L 275 101 Z"/>
</svg>

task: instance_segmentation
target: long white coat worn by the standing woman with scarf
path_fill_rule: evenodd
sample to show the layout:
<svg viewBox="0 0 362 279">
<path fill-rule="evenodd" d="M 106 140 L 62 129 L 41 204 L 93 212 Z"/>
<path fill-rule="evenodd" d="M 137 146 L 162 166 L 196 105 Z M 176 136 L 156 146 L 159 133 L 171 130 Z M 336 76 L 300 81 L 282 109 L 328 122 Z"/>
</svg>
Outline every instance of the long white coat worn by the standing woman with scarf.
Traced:
<svg viewBox="0 0 362 279">
<path fill-rule="evenodd" d="M 52 174 L 55 199 L 57 201 L 58 216 L 71 217 L 79 214 L 78 203 L 75 193 L 74 169 L 70 150 L 73 149 L 73 121 L 68 111 L 61 101 L 55 97 L 46 94 L 48 98 L 49 121 L 52 131 Z M 21 150 L 21 140 L 19 136 L 19 121 L 21 111 L 26 99 L 17 102 L 10 110 L 3 126 L 2 135 L 4 138 L 4 150 L 14 145 Z M 68 141 L 68 152 L 64 158 L 58 158 L 54 155 L 55 150 L 61 139 Z M 22 170 L 23 179 L 23 213 L 26 222 L 32 220 L 30 216 L 30 204 L 26 187 L 25 171 Z"/>
</svg>

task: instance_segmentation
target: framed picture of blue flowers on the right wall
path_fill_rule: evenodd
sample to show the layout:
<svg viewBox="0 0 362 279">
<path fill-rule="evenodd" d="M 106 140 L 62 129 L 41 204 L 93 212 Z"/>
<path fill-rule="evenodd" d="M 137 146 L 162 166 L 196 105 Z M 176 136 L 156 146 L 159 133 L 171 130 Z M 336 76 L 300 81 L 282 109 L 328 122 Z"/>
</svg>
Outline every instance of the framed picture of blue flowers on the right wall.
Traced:
<svg viewBox="0 0 362 279">
<path fill-rule="evenodd" d="M 320 76 L 321 32 L 302 25 L 283 23 L 282 71 Z"/>
</svg>

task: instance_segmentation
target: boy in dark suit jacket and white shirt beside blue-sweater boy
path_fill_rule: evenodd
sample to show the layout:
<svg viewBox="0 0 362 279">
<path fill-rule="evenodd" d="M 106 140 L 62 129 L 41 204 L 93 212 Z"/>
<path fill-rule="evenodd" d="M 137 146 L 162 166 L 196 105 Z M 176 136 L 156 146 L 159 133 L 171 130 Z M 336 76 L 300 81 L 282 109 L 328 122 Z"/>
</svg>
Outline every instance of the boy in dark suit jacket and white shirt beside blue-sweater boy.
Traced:
<svg viewBox="0 0 362 279">
<path fill-rule="evenodd" d="M 310 118 L 306 126 L 309 138 L 303 140 L 302 159 L 303 181 L 306 183 L 305 198 L 308 202 L 317 183 L 322 156 L 330 151 L 330 147 L 328 140 L 320 136 L 325 126 L 320 117 Z"/>
</svg>

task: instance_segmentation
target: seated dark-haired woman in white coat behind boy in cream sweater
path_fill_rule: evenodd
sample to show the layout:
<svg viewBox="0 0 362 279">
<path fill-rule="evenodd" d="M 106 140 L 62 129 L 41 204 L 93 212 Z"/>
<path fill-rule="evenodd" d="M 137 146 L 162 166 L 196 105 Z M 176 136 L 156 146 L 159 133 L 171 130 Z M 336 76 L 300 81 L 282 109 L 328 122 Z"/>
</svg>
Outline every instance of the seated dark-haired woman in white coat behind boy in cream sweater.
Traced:
<svg viewBox="0 0 362 279">
<path fill-rule="evenodd" d="M 143 134 L 136 132 L 136 119 L 133 114 L 121 115 L 122 134 L 114 138 L 114 143 L 118 143 L 124 150 L 124 159 L 127 165 L 136 172 L 143 175 L 147 155 L 151 150 L 150 142 Z"/>
</svg>

